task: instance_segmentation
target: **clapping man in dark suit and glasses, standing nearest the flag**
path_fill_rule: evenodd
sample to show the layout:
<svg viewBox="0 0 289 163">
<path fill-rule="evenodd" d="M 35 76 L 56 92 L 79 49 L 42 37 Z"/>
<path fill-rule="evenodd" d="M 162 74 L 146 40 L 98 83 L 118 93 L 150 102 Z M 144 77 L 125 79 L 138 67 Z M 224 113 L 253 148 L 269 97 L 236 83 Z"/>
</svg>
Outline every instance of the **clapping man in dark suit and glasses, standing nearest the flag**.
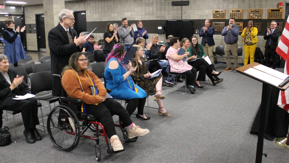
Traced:
<svg viewBox="0 0 289 163">
<path fill-rule="evenodd" d="M 277 65 L 277 57 L 279 57 L 276 53 L 276 48 L 278 45 L 279 36 L 281 36 L 281 32 L 276 29 L 277 22 L 275 20 L 271 21 L 270 28 L 267 28 L 267 33 L 264 35 L 265 44 L 265 64 L 267 67 L 270 66 L 270 58 L 272 58 L 273 69 L 276 68 Z"/>
</svg>

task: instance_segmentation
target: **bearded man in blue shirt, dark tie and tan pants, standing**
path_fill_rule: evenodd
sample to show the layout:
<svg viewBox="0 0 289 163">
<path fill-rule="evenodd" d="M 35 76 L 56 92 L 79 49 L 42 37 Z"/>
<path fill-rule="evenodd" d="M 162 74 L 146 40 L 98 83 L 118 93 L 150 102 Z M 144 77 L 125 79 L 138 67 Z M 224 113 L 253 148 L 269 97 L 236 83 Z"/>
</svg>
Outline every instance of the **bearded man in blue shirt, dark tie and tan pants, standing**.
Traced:
<svg viewBox="0 0 289 163">
<path fill-rule="evenodd" d="M 234 57 L 234 72 L 237 72 L 236 69 L 238 67 L 238 35 L 239 35 L 239 27 L 234 25 L 235 18 L 230 18 L 229 25 L 223 29 L 221 32 L 225 41 L 225 58 L 227 63 L 227 68 L 223 69 L 223 71 L 231 71 L 231 59 L 230 52 Z"/>
</svg>

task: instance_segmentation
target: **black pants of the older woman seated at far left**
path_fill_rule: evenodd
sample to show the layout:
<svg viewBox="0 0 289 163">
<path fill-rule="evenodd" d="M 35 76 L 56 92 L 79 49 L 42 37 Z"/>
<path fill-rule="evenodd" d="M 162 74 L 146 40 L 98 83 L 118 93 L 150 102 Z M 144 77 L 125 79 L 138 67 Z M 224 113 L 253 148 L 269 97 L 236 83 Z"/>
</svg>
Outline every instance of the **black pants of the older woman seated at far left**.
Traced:
<svg viewBox="0 0 289 163">
<path fill-rule="evenodd" d="M 1 109 L 21 112 L 25 129 L 35 128 L 39 124 L 37 100 L 33 97 L 26 100 L 18 100 L 13 104 L 3 106 Z"/>
</svg>

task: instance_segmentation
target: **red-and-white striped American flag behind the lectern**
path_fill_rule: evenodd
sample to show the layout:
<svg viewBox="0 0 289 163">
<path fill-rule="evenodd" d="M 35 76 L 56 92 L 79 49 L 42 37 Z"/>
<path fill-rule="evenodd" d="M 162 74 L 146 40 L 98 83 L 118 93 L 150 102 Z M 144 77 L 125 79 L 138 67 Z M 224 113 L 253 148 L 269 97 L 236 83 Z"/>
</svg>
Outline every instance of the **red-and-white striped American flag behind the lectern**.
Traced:
<svg viewBox="0 0 289 163">
<path fill-rule="evenodd" d="M 278 43 L 276 52 L 286 61 L 284 74 L 289 74 L 289 17 Z M 289 112 L 289 89 L 280 91 L 277 105 Z"/>
</svg>

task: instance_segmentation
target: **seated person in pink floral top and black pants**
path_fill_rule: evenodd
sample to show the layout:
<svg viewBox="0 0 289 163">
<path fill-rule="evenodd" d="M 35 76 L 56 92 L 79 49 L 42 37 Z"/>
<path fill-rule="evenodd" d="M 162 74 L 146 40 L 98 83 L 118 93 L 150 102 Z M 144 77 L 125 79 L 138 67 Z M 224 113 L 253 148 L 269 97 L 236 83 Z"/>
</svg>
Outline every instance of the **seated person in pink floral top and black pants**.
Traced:
<svg viewBox="0 0 289 163">
<path fill-rule="evenodd" d="M 174 72 L 178 75 L 186 75 L 186 87 L 189 89 L 191 94 L 194 94 L 196 91 L 195 83 L 197 77 L 197 70 L 188 65 L 187 61 L 182 61 L 183 58 L 190 55 L 189 52 L 185 52 L 184 55 L 178 55 L 177 52 L 179 50 L 180 42 L 179 38 L 173 37 L 170 39 L 170 48 L 166 52 L 166 58 L 168 59 L 168 63 L 171 66 L 171 72 Z"/>
</svg>

